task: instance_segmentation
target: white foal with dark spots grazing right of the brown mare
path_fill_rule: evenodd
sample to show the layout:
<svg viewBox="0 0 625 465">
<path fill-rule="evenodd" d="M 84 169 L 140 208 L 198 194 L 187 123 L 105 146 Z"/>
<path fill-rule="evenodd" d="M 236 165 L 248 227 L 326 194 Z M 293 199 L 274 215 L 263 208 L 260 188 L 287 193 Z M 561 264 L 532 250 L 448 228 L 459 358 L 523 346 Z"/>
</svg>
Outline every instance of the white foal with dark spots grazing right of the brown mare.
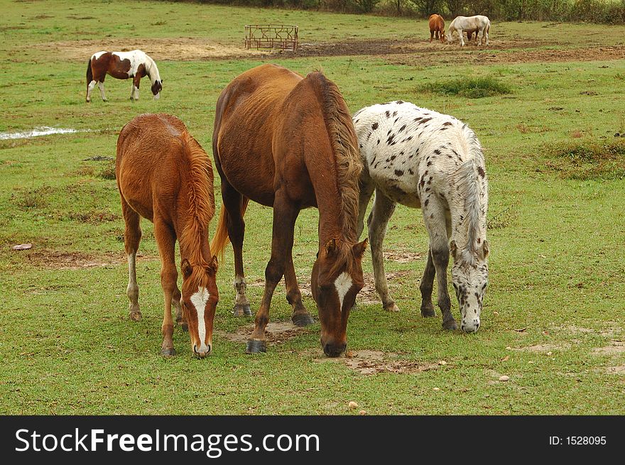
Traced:
<svg viewBox="0 0 625 465">
<path fill-rule="evenodd" d="M 464 332 L 476 332 L 488 284 L 486 239 L 488 184 L 484 155 L 475 134 L 453 116 L 408 102 L 367 106 L 354 114 L 364 163 L 359 200 L 359 235 L 369 214 L 374 277 L 382 305 L 399 310 L 388 293 L 382 242 L 396 204 L 421 208 L 430 236 L 428 263 L 420 284 L 421 314 L 434 316 L 432 288 L 437 276 L 442 326 L 456 329 L 447 292 L 447 265 L 453 259 Z M 451 243 L 449 242 L 451 239 Z"/>
</svg>

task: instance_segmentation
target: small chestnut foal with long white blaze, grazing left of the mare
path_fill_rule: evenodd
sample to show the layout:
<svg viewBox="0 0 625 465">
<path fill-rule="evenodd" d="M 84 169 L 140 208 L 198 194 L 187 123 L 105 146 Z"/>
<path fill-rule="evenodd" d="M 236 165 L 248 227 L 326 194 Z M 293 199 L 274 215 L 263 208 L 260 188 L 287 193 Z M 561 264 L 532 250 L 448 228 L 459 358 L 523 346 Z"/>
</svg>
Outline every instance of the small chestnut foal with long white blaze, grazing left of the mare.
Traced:
<svg viewBox="0 0 625 465">
<path fill-rule="evenodd" d="M 136 283 L 136 252 L 141 217 L 154 224 L 165 294 L 161 354 L 174 355 L 172 305 L 176 321 L 188 325 L 191 346 L 202 358 L 212 349 L 212 325 L 219 292 L 217 258 L 210 253 L 208 224 L 214 215 L 210 158 L 178 118 L 144 114 L 126 124 L 117 139 L 115 163 L 128 255 L 130 319 L 141 319 Z M 175 241 L 180 242 L 183 292 L 176 281 Z M 181 298 L 182 297 L 182 298 Z"/>
</svg>

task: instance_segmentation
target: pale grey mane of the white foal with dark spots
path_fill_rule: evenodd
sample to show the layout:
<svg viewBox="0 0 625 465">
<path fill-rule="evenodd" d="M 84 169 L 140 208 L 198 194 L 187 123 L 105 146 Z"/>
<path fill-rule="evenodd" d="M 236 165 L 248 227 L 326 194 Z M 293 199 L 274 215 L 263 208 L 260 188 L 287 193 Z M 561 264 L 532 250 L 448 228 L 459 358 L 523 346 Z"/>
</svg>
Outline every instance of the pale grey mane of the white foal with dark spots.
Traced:
<svg viewBox="0 0 625 465">
<path fill-rule="evenodd" d="M 454 228 L 452 239 L 457 242 L 461 263 L 474 266 L 477 251 L 486 238 L 486 215 L 488 205 L 487 176 L 484 171 L 484 153 L 475 133 L 465 124 L 462 126 L 467 142 L 469 159 L 453 174 L 454 185 L 460 187 L 458 198 L 464 199 L 462 220 Z"/>
</svg>

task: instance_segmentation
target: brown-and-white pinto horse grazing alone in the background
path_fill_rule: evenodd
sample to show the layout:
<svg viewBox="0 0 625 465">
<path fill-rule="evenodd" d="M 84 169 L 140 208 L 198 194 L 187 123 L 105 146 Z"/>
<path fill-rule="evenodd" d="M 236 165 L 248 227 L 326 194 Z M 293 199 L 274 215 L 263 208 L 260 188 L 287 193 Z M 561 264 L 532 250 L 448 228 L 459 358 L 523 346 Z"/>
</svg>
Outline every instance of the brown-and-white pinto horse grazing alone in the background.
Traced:
<svg viewBox="0 0 625 465">
<path fill-rule="evenodd" d="M 97 52 L 91 55 L 87 63 L 87 102 L 91 102 L 91 92 L 98 85 L 102 100 L 104 97 L 104 78 L 107 74 L 117 79 L 128 79 L 132 77 L 131 100 L 139 99 L 139 83 L 141 77 L 148 76 L 152 83 L 152 94 L 154 99 L 161 96 L 163 80 L 158 74 L 158 67 L 152 58 L 141 50 L 131 52 Z"/>
</svg>

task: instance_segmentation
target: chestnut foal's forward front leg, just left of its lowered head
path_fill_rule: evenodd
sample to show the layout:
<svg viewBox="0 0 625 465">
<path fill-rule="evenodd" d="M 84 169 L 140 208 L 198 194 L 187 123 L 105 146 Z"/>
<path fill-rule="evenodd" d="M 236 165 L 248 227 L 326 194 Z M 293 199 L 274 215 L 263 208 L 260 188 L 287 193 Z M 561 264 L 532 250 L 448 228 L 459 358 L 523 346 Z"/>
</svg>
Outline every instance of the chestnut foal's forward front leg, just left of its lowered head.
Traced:
<svg viewBox="0 0 625 465">
<path fill-rule="evenodd" d="M 171 318 L 171 305 L 173 295 L 178 290 L 176 281 L 178 280 L 178 270 L 175 266 L 175 233 L 170 225 L 162 219 L 154 218 L 154 237 L 158 245 L 158 253 L 161 255 L 161 288 L 165 296 L 165 307 L 163 309 L 163 346 L 161 355 L 175 355 L 173 348 L 173 319 Z M 180 291 L 178 291 L 180 292 Z M 180 305 L 180 297 L 178 298 Z"/>
</svg>

